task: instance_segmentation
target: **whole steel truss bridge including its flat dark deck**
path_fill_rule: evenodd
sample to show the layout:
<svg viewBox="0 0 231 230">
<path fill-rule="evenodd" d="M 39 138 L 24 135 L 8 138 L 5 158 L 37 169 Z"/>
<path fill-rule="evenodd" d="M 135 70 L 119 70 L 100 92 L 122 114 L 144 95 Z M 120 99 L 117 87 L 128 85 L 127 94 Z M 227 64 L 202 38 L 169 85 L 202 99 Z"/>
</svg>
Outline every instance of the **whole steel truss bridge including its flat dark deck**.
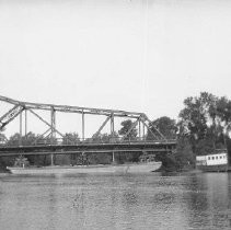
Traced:
<svg viewBox="0 0 231 230">
<path fill-rule="evenodd" d="M 0 115 L 0 130 L 20 117 L 20 140 L 16 146 L 0 145 L 0 157 L 5 156 L 28 156 L 28 154 L 50 154 L 51 162 L 54 154 L 63 153 L 101 153 L 101 152 L 172 152 L 175 149 L 176 141 L 168 140 L 151 123 L 145 113 L 90 108 L 69 105 L 41 104 L 12 100 L 5 96 L 0 96 L 0 101 L 11 105 L 7 113 Z M 50 119 L 46 120 L 38 111 L 47 111 L 50 114 Z M 41 123 L 47 126 L 47 129 L 38 135 L 36 139 L 24 146 L 22 143 L 23 126 L 24 137 L 27 135 L 27 113 L 37 117 Z M 81 114 L 81 138 L 74 140 L 68 138 L 56 127 L 57 113 L 77 113 Z M 105 116 L 105 120 L 91 138 L 85 138 L 85 115 Z M 24 117 L 24 119 L 23 119 Z M 117 117 L 135 119 L 131 127 L 123 137 L 115 136 L 115 119 Z M 109 124 L 109 138 L 103 140 L 99 138 L 103 128 Z M 138 128 L 137 128 L 138 127 Z M 138 137 L 134 140 L 129 139 L 132 129 L 138 129 Z M 147 131 L 151 134 L 152 138 L 147 139 Z"/>
</svg>

